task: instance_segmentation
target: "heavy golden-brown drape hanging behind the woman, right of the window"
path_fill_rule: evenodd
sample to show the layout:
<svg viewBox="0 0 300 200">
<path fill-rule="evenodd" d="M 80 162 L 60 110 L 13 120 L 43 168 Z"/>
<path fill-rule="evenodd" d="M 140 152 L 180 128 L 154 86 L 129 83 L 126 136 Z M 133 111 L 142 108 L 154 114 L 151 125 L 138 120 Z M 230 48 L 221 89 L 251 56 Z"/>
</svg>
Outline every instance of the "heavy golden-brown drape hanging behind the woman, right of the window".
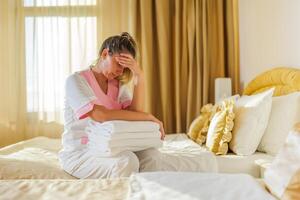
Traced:
<svg viewBox="0 0 300 200">
<path fill-rule="evenodd" d="M 237 0 L 136 2 L 136 38 L 147 77 L 147 109 L 167 132 L 186 132 L 213 102 L 214 79 L 239 88 Z"/>
</svg>

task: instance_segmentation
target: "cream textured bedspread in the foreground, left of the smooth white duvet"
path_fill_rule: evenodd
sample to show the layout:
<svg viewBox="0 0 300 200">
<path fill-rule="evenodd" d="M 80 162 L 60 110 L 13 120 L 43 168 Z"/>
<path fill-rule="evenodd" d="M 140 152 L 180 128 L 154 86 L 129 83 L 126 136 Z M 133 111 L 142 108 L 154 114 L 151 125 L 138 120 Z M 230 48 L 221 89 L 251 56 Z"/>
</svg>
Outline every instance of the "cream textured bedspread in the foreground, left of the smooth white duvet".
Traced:
<svg viewBox="0 0 300 200">
<path fill-rule="evenodd" d="M 0 180 L 0 199 L 124 200 L 128 178 L 101 180 Z"/>
</svg>

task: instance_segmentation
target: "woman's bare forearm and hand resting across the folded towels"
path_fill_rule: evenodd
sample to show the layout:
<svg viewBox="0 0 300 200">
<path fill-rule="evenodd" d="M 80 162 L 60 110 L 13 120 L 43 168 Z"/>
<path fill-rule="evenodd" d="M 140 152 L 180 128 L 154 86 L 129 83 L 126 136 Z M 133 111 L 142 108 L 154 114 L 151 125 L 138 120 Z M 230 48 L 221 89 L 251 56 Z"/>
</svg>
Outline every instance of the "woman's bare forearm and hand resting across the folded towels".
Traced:
<svg viewBox="0 0 300 200">
<path fill-rule="evenodd" d="M 160 126 L 161 139 L 165 137 L 163 123 L 148 113 L 130 110 L 108 110 L 104 106 L 94 105 L 93 110 L 87 113 L 87 115 L 98 122 L 110 120 L 153 121 Z"/>
</svg>

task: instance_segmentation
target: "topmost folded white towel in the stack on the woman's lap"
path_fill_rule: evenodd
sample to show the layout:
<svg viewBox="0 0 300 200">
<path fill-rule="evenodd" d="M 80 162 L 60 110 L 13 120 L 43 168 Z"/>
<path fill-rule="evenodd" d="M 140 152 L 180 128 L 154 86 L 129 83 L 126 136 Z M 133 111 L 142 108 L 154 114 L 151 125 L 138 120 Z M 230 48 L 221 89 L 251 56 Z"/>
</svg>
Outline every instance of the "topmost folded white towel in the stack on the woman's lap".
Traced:
<svg viewBox="0 0 300 200">
<path fill-rule="evenodd" d="M 113 120 L 100 123 L 90 120 L 89 126 L 99 128 L 99 130 L 105 130 L 106 132 L 103 132 L 103 134 L 107 135 L 125 132 L 134 133 L 159 131 L 159 124 L 152 121 Z"/>
</svg>

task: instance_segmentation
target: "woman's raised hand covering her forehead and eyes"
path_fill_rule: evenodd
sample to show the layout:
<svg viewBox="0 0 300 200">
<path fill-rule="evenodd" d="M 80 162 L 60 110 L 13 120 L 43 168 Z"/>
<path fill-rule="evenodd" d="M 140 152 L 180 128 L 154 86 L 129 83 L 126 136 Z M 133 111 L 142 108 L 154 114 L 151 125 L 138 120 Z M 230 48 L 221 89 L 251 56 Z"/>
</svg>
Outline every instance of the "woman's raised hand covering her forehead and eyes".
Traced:
<svg viewBox="0 0 300 200">
<path fill-rule="evenodd" d="M 129 68 L 133 74 L 140 75 L 142 73 L 137 61 L 128 53 L 120 53 L 120 56 L 116 57 L 116 61 L 123 67 Z"/>
</svg>

